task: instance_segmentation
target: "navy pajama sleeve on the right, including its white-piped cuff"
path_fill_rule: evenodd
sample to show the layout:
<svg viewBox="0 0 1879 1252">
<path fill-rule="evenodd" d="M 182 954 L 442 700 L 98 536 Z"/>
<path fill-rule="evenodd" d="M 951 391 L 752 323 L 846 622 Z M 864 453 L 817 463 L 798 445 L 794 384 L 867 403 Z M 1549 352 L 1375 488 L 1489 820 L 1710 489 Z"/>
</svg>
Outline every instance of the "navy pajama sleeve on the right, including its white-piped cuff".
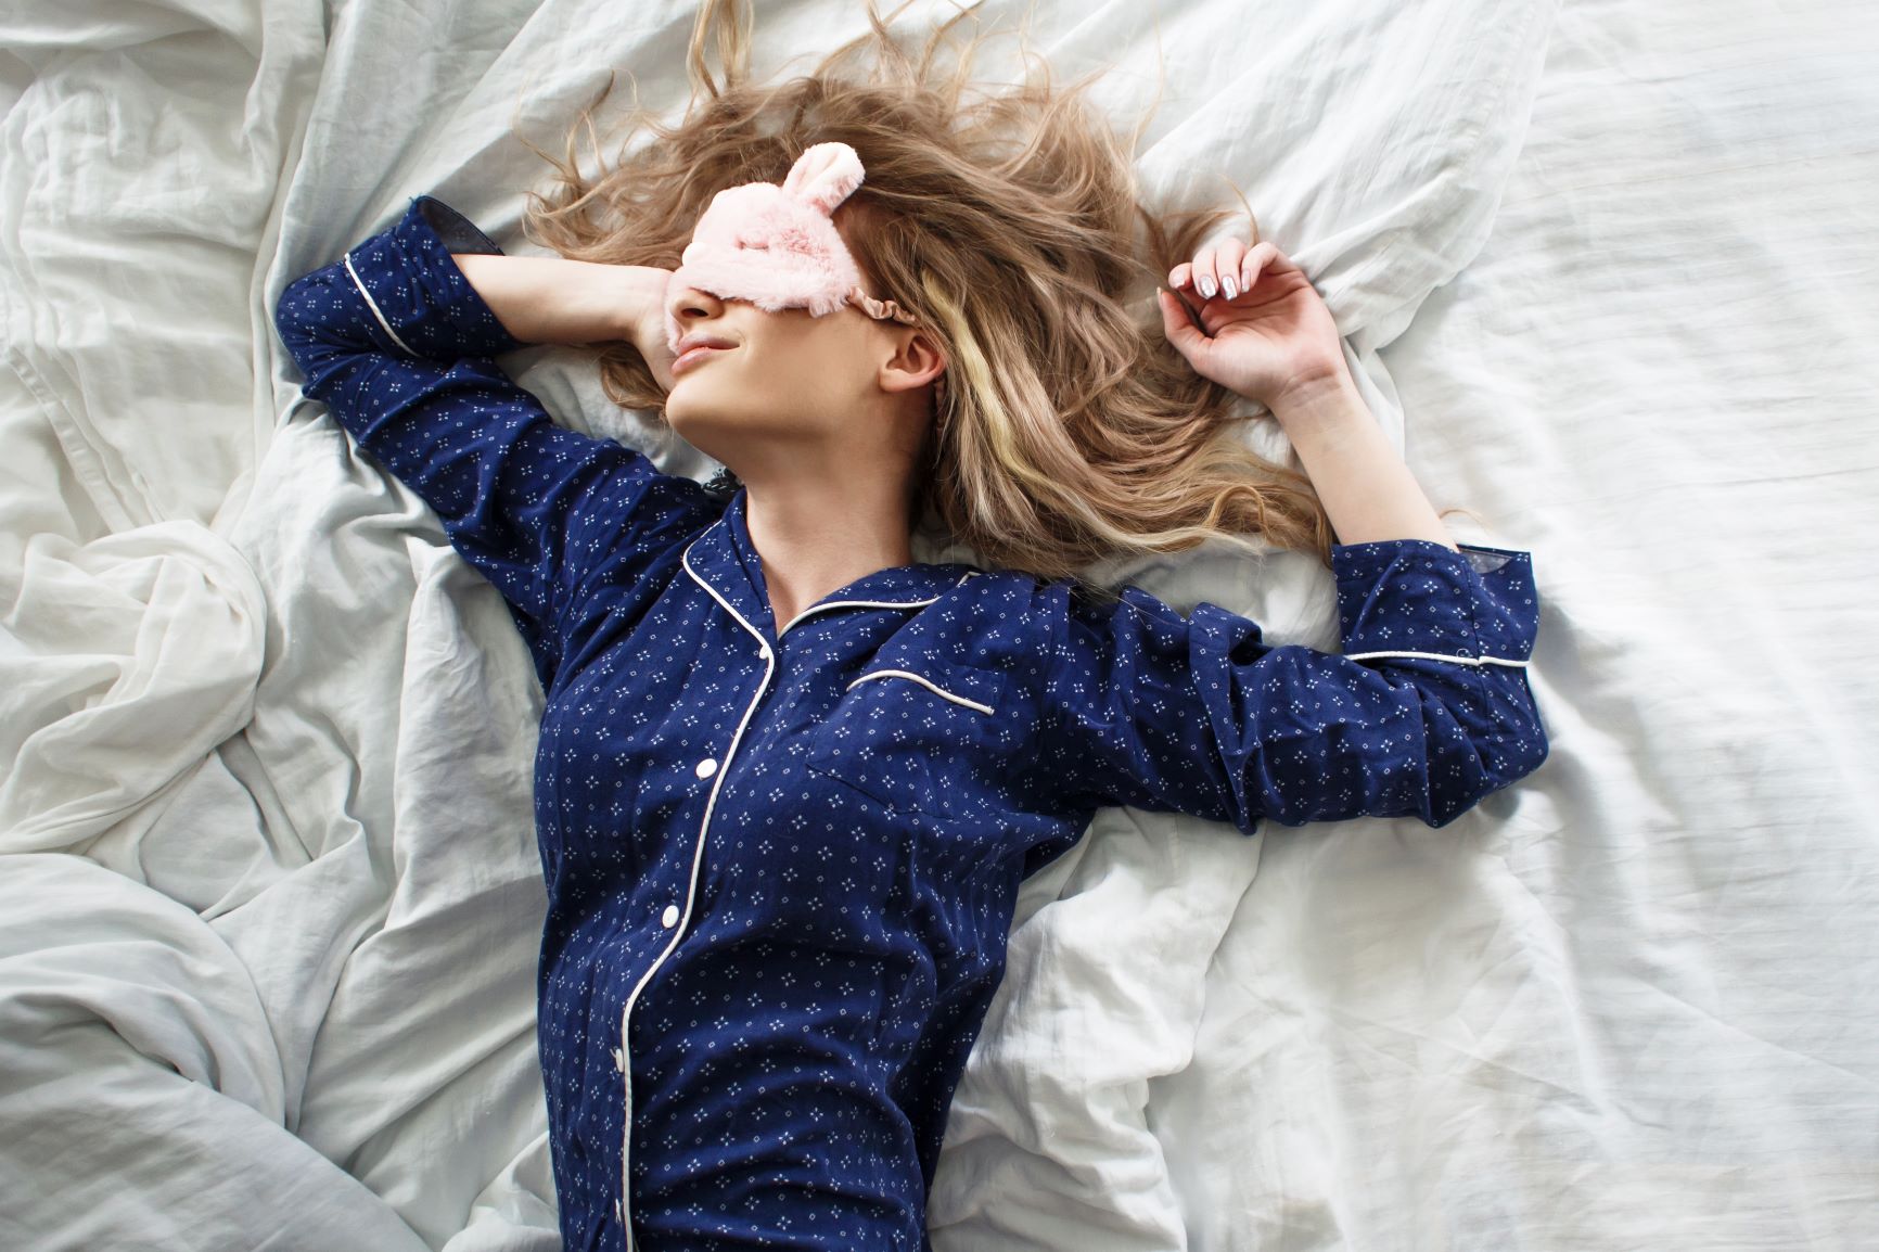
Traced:
<svg viewBox="0 0 1879 1252">
<path fill-rule="evenodd" d="M 1359 816 L 1447 825 L 1546 759 L 1526 662 L 1526 553 L 1426 540 L 1332 549 L 1343 654 L 1272 647 L 1212 603 L 1048 588 L 1037 786 L 1060 812 L 1129 805 L 1251 835 Z"/>
</svg>

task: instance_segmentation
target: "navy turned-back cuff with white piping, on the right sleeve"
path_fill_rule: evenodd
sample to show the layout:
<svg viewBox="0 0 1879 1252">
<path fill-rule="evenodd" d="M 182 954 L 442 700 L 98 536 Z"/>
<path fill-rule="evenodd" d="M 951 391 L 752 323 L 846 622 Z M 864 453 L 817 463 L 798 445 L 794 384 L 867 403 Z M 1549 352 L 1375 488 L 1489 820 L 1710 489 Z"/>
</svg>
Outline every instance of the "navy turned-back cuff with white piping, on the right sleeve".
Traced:
<svg viewBox="0 0 1879 1252">
<path fill-rule="evenodd" d="M 1334 545 L 1343 654 L 1526 664 L 1539 634 L 1531 555 L 1460 547 L 1430 540 Z"/>
</svg>

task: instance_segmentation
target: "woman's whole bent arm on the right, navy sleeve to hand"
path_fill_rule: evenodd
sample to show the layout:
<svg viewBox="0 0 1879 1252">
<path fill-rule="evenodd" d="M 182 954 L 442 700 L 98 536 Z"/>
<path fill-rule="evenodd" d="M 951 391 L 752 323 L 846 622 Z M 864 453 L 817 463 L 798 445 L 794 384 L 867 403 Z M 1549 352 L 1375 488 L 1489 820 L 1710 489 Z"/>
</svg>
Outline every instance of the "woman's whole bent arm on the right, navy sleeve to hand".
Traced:
<svg viewBox="0 0 1879 1252">
<path fill-rule="evenodd" d="M 1343 652 L 1272 647 L 1203 603 L 1045 588 L 1052 649 L 1032 791 L 1062 812 L 1189 812 L 1253 833 L 1359 816 L 1445 825 L 1546 759 L 1526 681 L 1526 553 L 1456 545 L 1364 410 L 1317 291 L 1272 244 L 1208 252 L 1163 291 L 1169 340 L 1283 423 L 1342 540 Z M 1199 325 L 1197 325 L 1199 321 Z"/>
</svg>

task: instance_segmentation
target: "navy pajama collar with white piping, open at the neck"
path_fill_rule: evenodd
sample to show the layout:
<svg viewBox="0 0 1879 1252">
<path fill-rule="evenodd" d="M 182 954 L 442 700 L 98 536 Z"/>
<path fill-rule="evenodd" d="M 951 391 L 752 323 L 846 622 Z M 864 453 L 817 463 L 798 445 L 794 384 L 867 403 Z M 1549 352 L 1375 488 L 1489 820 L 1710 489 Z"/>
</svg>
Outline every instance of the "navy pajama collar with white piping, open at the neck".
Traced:
<svg viewBox="0 0 1879 1252">
<path fill-rule="evenodd" d="M 770 590 L 763 581 L 763 558 L 750 541 L 746 494 L 748 489 L 740 487 L 731 496 L 731 504 L 725 506 L 723 517 L 686 545 L 684 566 L 748 630 L 772 645 L 780 628 L 800 630 L 823 617 L 921 609 L 979 573 L 979 570 L 962 564 L 889 566 L 834 588 L 814 605 L 799 611 L 793 624 L 776 622 L 770 617 Z"/>
</svg>

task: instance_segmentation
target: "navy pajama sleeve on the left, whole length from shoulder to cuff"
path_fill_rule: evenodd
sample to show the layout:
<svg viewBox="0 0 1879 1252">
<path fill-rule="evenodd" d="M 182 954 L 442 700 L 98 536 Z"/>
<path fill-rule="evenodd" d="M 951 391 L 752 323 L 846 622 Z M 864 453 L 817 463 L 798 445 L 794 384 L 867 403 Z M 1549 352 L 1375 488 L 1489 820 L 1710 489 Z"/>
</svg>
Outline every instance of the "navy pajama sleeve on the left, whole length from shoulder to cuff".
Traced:
<svg viewBox="0 0 1879 1252">
<path fill-rule="evenodd" d="M 524 348 L 453 252 L 502 254 L 449 205 L 415 197 L 389 229 L 291 282 L 274 325 L 321 400 L 438 513 L 451 545 L 504 596 L 543 686 L 573 590 L 596 560 L 620 577 L 701 489 L 614 440 L 554 425 L 490 359 Z"/>
</svg>

